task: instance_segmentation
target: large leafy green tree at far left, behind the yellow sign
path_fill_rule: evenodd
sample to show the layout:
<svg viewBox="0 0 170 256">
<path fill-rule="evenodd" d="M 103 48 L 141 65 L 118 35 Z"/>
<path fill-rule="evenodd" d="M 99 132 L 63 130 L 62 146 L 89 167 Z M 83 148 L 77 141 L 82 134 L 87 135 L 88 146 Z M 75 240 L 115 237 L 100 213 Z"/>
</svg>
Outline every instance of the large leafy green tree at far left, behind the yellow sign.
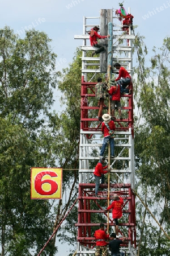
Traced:
<svg viewBox="0 0 170 256">
<path fill-rule="evenodd" d="M 30 168 L 56 163 L 46 154 L 48 142 L 40 133 L 49 121 L 58 77 L 50 41 L 35 30 L 27 31 L 24 39 L 10 27 L 0 30 L 2 256 L 36 255 L 52 233 L 52 202 L 30 199 Z"/>
</svg>

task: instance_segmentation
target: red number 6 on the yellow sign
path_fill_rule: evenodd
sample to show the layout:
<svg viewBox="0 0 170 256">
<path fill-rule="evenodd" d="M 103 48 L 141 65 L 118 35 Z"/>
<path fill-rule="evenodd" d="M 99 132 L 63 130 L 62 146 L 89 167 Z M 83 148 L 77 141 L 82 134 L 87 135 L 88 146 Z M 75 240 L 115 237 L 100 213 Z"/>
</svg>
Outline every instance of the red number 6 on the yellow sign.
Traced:
<svg viewBox="0 0 170 256">
<path fill-rule="evenodd" d="M 40 172 L 35 177 L 35 181 L 34 181 L 35 190 L 37 193 L 39 193 L 40 195 L 43 195 L 43 196 L 53 195 L 54 193 L 56 193 L 56 191 L 58 189 L 58 184 L 54 180 L 49 180 L 49 179 L 42 180 L 42 177 L 44 175 L 49 175 L 51 177 L 58 177 L 56 172 L 52 172 L 52 171 Z M 42 189 L 42 184 L 45 184 L 45 183 L 48 183 L 51 185 L 50 191 L 44 191 Z"/>
</svg>

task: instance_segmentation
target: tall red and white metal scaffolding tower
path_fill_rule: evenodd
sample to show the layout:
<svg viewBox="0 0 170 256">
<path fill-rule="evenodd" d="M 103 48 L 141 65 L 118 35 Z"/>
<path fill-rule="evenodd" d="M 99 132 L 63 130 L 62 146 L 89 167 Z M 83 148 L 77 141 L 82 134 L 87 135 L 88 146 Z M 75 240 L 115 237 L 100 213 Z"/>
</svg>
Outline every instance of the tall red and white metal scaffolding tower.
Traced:
<svg viewBox="0 0 170 256">
<path fill-rule="evenodd" d="M 129 12 L 130 13 L 130 12 Z M 94 26 L 100 25 L 100 34 L 111 34 L 111 49 L 108 42 L 105 42 L 107 51 L 100 53 L 100 57 L 90 57 L 94 48 L 89 46 L 88 31 Z M 122 196 L 124 199 L 124 217 L 119 224 L 119 233 L 126 237 L 126 243 L 121 246 L 125 255 L 136 255 L 136 232 L 135 232 L 135 196 L 133 188 L 135 185 L 134 174 L 134 139 L 133 139 L 133 85 L 131 84 L 131 94 L 124 94 L 123 119 L 116 119 L 116 131 L 114 132 L 114 146 L 116 157 L 107 159 L 112 167 L 108 184 L 101 184 L 100 197 L 95 197 L 94 189 L 94 163 L 99 160 L 100 147 L 103 137 L 101 136 L 101 121 L 97 119 L 98 106 L 94 106 L 95 85 L 97 76 L 101 76 L 108 70 L 108 65 L 118 62 L 123 65 L 132 77 L 132 51 L 131 43 L 134 35 L 131 34 L 131 26 L 124 28 L 122 20 L 118 15 L 113 14 L 113 10 L 101 10 L 99 17 L 83 18 L 83 34 L 75 35 L 75 39 L 82 39 L 82 81 L 81 81 L 81 106 L 80 106 L 80 155 L 79 155 L 79 195 L 78 195 L 78 236 L 77 254 L 80 256 L 91 256 L 95 253 L 94 229 L 100 222 L 93 223 L 97 216 L 103 214 L 107 225 L 109 218 L 109 228 L 115 226 L 112 218 L 105 212 L 108 200 L 113 199 L 113 193 Z M 111 31 L 112 28 L 112 31 Z M 113 69 L 112 75 L 116 72 Z M 104 112 L 108 112 L 105 106 Z M 108 196 L 109 195 L 109 196 Z"/>
</svg>

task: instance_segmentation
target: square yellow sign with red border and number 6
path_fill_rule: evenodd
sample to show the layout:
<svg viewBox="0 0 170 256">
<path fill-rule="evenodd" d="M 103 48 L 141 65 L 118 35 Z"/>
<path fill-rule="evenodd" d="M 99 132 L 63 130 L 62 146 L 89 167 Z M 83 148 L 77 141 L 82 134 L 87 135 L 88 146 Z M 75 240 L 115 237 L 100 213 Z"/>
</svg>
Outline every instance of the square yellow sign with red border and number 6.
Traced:
<svg viewBox="0 0 170 256">
<path fill-rule="evenodd" d="M 62 168 L 31 168 L 31 199 L 61 199 Z"/>
</svg>

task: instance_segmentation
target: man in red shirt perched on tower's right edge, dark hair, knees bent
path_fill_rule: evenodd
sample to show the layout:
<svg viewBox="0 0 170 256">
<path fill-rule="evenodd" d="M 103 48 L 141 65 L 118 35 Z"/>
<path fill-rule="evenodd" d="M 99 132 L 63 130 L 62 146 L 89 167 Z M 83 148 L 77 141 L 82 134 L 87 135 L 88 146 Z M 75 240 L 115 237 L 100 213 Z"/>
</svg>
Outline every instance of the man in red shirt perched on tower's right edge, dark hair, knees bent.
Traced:
<svg viewBox="0 0 170 256">
<path fill-rule="evenodd" d="M 114 67 L 119 70 L 118 77 L 115 81 L 123 88 L 125 93 L 129 93 L 129 89 L 126 88 L 131 83 L 131 77 L 128 71 L 124 67 L 121 67 L 119 63 L 115 63 Z"/>
</svg>

